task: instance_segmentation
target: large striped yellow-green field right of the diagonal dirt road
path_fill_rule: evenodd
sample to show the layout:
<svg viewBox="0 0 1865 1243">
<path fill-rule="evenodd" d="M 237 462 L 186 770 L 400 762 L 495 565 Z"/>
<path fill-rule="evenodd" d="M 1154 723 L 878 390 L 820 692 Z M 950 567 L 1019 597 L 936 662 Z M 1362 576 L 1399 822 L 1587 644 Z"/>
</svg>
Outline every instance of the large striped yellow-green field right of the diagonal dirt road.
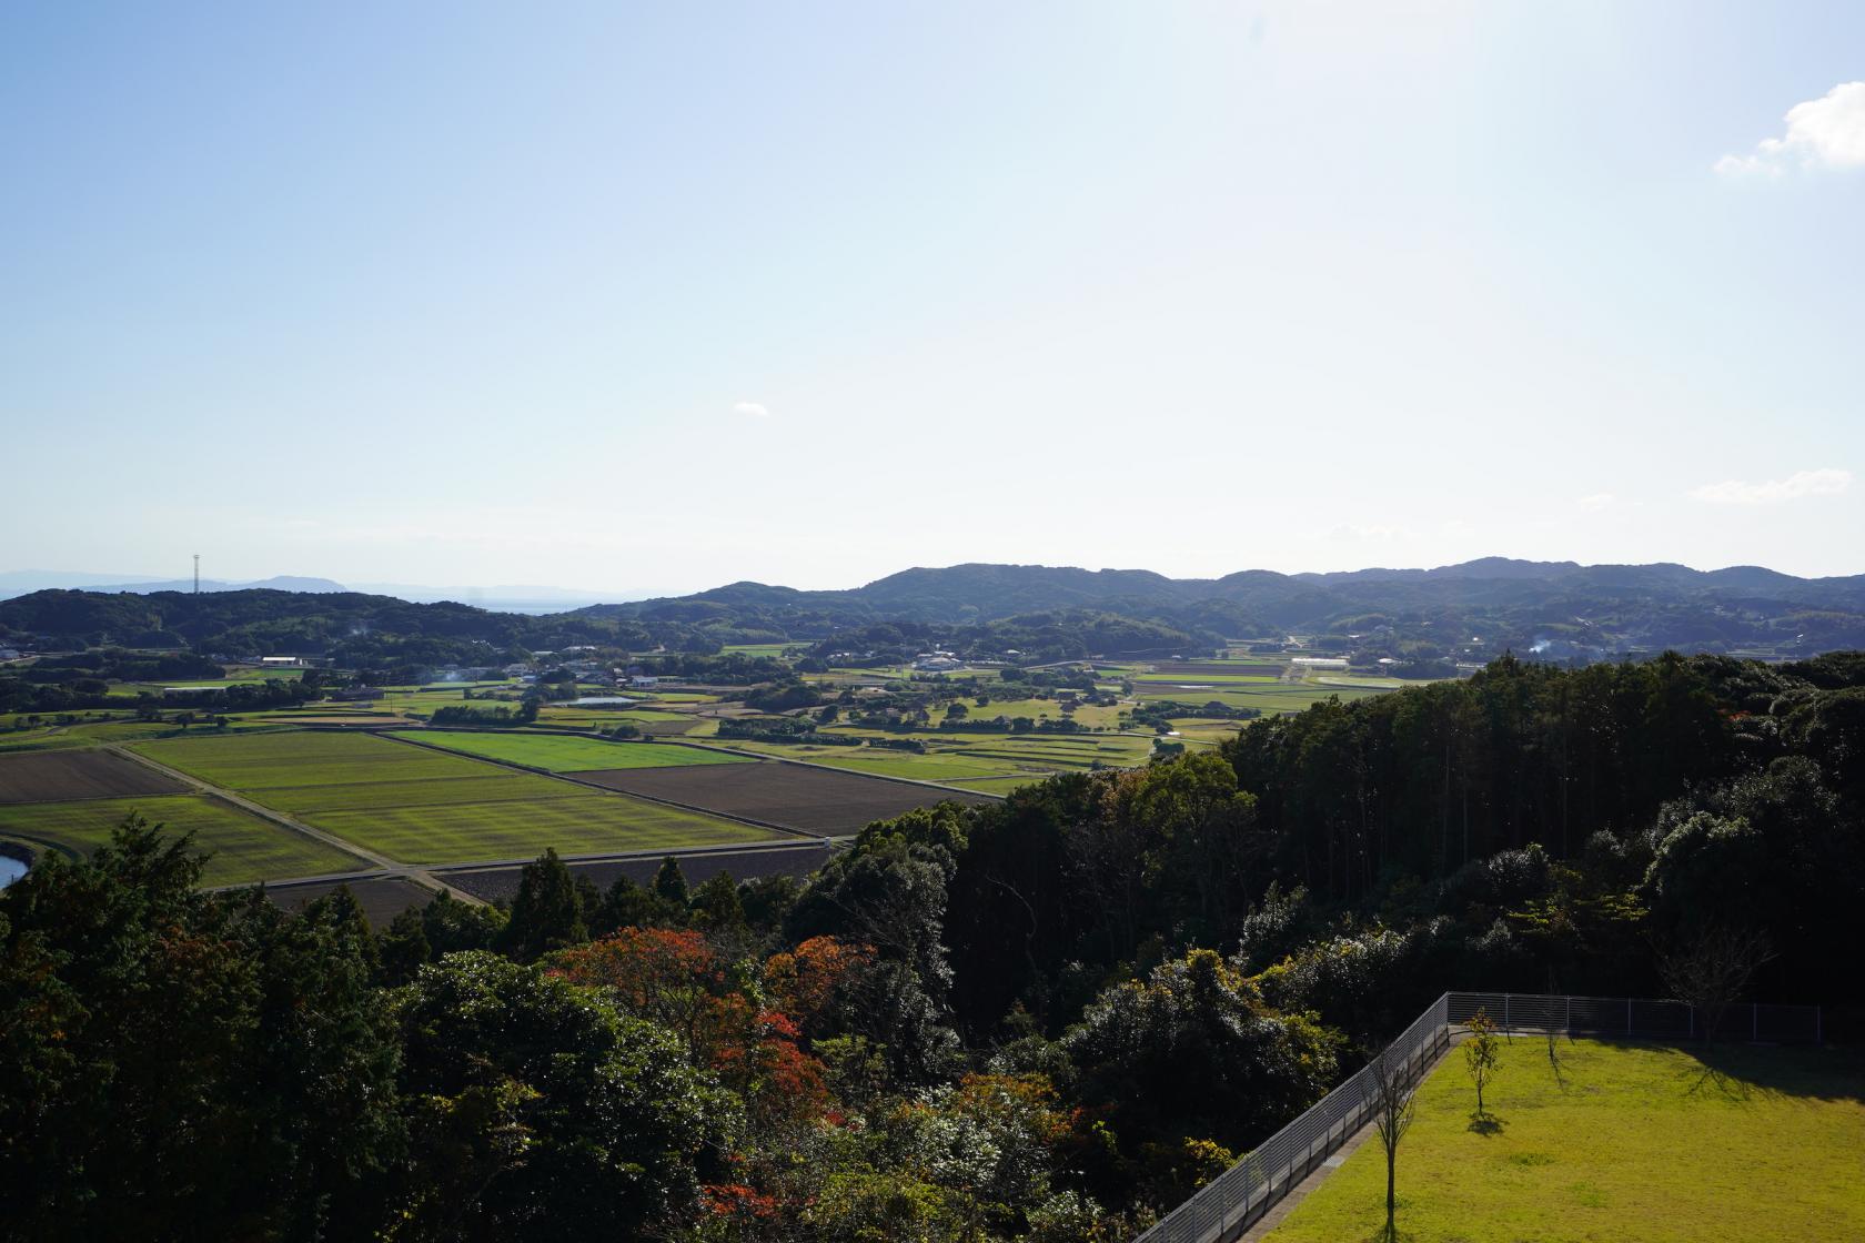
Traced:
<svg viewBox="0 0 1865 1243">
<path fill-rule="evenodd" d="M 772 837 L 720 816 L 367 734 L 162 738 L 136 749 L 401 863 L 517 859 L 545 846 L 597 854 Z"/>
</svg>

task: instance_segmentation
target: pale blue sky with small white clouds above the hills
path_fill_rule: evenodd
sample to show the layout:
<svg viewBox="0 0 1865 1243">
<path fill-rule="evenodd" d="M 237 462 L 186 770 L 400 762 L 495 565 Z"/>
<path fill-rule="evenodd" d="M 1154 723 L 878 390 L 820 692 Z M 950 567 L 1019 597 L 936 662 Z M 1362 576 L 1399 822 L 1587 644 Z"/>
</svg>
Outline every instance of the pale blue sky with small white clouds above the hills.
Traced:
<svg viewBox="0 0 1865 1243">
<path fill-rule="evenodd" d="M 1865 572 L 1861 80 L 1856 4 L 11 4 L 0 568 Z"/>
</svg>

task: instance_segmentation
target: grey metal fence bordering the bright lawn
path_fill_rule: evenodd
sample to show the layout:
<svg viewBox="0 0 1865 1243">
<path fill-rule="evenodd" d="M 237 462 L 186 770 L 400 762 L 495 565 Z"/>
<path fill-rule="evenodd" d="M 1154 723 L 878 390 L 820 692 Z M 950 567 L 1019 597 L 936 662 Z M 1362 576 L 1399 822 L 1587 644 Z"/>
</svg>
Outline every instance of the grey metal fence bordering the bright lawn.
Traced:
<svg viewBox="0 0 1865 1243">
<path fill-rule="evenodd" d="M 1557 1031 L 1582 1036 L 1651 1036 L 1692 1040 L 1703 1034 L 1695 1010 L 1682 1001 L 1636 997 L 1552 997 L 1544 993 L 1444 993 L 1382 1059 L 1363 1066 L 1307 1113 L 1276 1131 L 1197 1195 L 1162 1217 L 1136 1243 L 1229 1243 L 1261 1221 L 1289 1189 L 1345 1144 L 1376 1109 L 1378 1060 L 1402 1059 L 1408 1081 L 1430 1070 L 1455 1029 L 1483 1010 L 1503 1031 Z M 1818 1006 L 1731 1006 L 1718 1034 L 1733 1040 L 1818 1044 Z"/>
</svg>

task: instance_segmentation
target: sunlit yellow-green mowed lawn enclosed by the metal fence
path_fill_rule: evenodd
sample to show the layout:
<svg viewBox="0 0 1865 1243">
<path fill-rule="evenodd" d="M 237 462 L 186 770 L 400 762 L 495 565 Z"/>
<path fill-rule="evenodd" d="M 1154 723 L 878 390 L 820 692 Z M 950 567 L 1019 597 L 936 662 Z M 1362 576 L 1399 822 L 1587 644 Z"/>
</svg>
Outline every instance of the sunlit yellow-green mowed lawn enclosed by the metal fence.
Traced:
<svg viewBox="0 0 1865 1243">
<path fill-rule="evenodd" d="M 1559 1042 L 1503 1045 L 1471 1129 L 1460 1051 L 1425 1081 L 1399 1148 L 1399 1237 L 1416 1243 L 1865 1239 L 1865 1059 L 1858 1051 Z M 1360 1243 L 1386 1223 L 1369 1139 L 1274 1243 Z"/>
</svg>

